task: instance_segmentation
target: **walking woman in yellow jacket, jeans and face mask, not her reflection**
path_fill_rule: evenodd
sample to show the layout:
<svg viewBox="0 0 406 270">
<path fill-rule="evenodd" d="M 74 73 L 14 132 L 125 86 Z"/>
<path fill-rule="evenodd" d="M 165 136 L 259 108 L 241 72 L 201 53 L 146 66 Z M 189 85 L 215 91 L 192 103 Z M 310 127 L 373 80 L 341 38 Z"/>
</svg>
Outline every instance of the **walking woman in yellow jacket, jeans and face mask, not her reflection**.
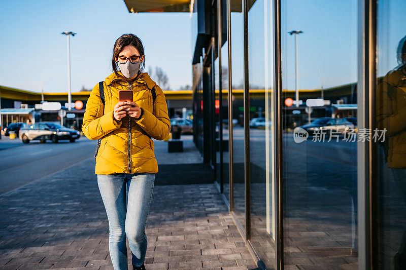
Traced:
<svg viewBox="0 0 406 270">
<path fill-rule="evenodd" d="M 133 269 L 145 269 L 145 225 L 158 172 L 151 137 L 163 140 L 171 131 L 162 90 L 147 72 L 141 72 L 144 58 L 136 35 L 120 36 L 113 49 L 114 72 L 103 83 L 105 104 L 96 84 L 83 117 L 85 136 L 101 138 L 95 174 L 109 220 L 109 250 L 116 270 L 128 267 L 126 236 Z M 119 102 L 118 91 L 128 89 L 133 91 L 133 101 Z"/>
</svg>

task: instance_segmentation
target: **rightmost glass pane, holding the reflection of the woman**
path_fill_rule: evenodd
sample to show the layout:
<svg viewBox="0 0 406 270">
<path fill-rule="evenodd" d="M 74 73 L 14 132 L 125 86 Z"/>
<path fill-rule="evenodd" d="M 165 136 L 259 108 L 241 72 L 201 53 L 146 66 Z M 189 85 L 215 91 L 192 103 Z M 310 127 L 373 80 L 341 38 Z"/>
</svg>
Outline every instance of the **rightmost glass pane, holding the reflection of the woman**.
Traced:
<svg viewBox="0 0 406 270">
<path fill-rule="evenodd" d="M 406 269 L 405 11 L 402 0 L 378 1 L 375 128 L 380 137 L 374 140 L 378 220 L 373 224 L 380 269 Z"/>
</svg>

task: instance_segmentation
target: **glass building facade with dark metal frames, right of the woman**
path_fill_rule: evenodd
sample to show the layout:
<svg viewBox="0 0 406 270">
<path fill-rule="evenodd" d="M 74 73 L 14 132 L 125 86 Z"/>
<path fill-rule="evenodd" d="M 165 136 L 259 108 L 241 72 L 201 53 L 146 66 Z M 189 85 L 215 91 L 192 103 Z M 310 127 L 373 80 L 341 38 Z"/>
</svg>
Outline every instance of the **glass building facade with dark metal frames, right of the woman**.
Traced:
<svg viewBox="0 0 406 270">
<path fill-rule="evenodd" d="M 406 2 L 186 4 L 194 141 L 258 267 L 405 269 Z"/>
</svg>

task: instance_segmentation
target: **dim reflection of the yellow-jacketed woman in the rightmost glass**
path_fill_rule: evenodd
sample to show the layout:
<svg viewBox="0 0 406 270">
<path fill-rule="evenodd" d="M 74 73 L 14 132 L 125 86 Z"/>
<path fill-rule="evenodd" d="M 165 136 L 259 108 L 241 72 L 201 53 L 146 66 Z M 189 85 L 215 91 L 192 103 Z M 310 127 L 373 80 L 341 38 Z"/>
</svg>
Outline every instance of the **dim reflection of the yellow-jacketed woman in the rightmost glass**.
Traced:
<svg viewBox="0 0 406 270">
<path fill-rule="evenodd" d="M 378 85 L 377 123 L 379 130 L 387 130 L 383 143 L 385 161 L 406 202 L 406 36 L 400 40 L 396 53 L 399 65 Z M 394 264 L 395 268 L 406 269 L 406 232 Z"/>
</svg>

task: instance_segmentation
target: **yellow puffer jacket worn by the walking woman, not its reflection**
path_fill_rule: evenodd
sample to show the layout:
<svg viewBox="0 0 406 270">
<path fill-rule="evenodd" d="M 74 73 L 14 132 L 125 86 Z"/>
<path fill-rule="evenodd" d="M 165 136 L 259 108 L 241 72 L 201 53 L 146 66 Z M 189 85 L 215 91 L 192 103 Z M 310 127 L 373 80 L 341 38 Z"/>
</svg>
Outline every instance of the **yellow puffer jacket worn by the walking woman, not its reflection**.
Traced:
<svg viewBox="0 0 406 270">
<path fill-rule="evenodd" d="M 91 140 L 102 138 L 95 174 L 157 173 L 151 137 L 163 140 L 171 131 L 165 96 L 147 72 L 141 73 L 131 87 L 122 73 L 118 73 L 119 76 L 113 72 L 104 81 L 104 111 L 98 83 L 86 103 L 82 131 Z M 152 104 L 151 89 L 155 85 L 156 98 Z M 133 101 L 143 108 L 144 113 L 139 120 L 127 114 L 117 122 L 113 118 L 113 109 L 119 102 L 118 91 L 128 89 L 132 89 Z"/>
</svg>

